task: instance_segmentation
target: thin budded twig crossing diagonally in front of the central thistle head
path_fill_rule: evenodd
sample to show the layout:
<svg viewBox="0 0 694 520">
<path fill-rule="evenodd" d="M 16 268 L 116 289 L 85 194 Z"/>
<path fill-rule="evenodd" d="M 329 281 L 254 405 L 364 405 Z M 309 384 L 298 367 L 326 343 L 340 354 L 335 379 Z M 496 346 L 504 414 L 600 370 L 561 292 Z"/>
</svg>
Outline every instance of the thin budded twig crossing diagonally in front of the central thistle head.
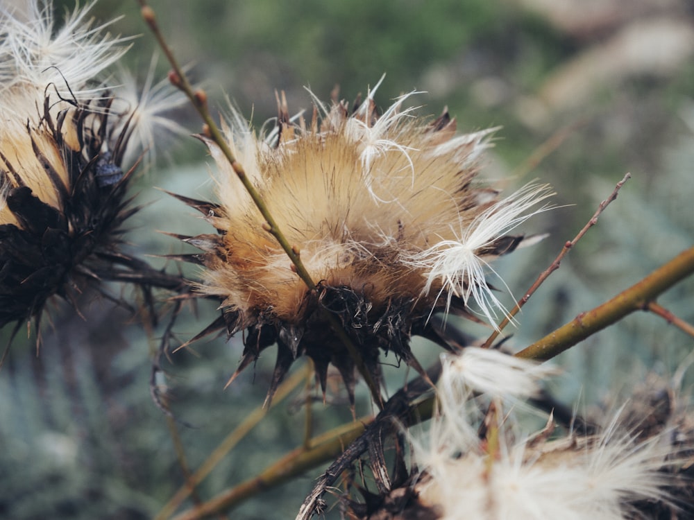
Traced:
<svg viewBox="0 0 694 520">
<path fill-rule="evenodd" d="M 180 67 L 180 64 L 178 64 L 178 60 L 176 60 L 173 51 L 171 51 L 171 48 L 167 44 L 166 40 L 164 40 L 164 35 L 159 30 L 154 10 L 149 5 L 147 5 L 146 0 L 137 1 L 141 7 L 140 12 L 142 14 L 142 19 L 144 19 L 146 24 L 149 25 L 149 28 L 151 29 L 159 46 L 164 52 L 164 55 L 166 55 L 167 59 L 169 60 L 169 63 L 171 64 L 171 67 L 173 69 L 171 72 L 169 72 L 169 80 L 171 81 L 171 84 L 180 89 L 181 92 L 183 92 L 185 96 L 187 96 L 189 101 L 195 107 L 195 110 L 198 112 L 198 114 L 200 114 L 201 118 L 204 121 L 203 134 L 206 137 L 212 139 L 212 141 L 214 141 L 214 144 L 216 144 L 219 147 L 219 150 L 221 150 L 221 153 L 223 153 L 224 157 L 226 157 L 233 171 L 236 173 L 237 177 L 239 177 L 239 180 L 241 180 L 241 182 L 244 184 L 244 188 L 248 192 L 248 195 L 251 196 L 251 199 L 253 199 L 255 206 L 260 211 L 260 214 L 265 220 L 262 226 L 263 229 L 265 229 L 266 232 L 271 234 L 276 239 L 276 241 L 282 247 L 282 250 L 285 251 L 289 259 L 291 260 L 293 268 L 294 270 L 296 270 L 296 274 L 304 281 L 304 283 L 312 293 L 316 293 L 317 286 L 311 278 L 311 275 L 305 268 L 303 261 L 301 261 L 301 251 L 299 250 L 297 245 L 290 244 L 285 234 L 282 233 L 279 225 L 273 218 L 267 205 L 262 199 L 262 196 L 260 196 L 260 192 L 257 191 L 255 186 L 253 185 L 253 182 L 251 182 L 251 180 L 248 178 L 248 175 L 246 175 L 244 167 L 241 163 L 237 161 L 231 148 L 226 142 L 226 139 L 224 139 L 221 130 L 219 130 L 219 126 L 217 126 L 217 123 L 214 122 L 214 119 L 210 114 L 210 110 L 208 110 L 207 94 L 205 94 L 205 91 L 203 91 L 202 89 L 194 89 L 191 83 L 189 82 L 185 71 L 182 67 Z M 373 401 L 375 402 L 376 406 L 378 406 L 379 409 L 382 409 L 383 399 L 381 397 L 381 392 L 380 388 L 378 387 L 378 383 L 376 383 L 376 381 L 373 380 L 373 377 L 371 376 L 368 367 L 366 367 L 364 359 L 359 354 L 357 347 L 355 347 L 352 340 L 350 340 L 349 336 L 344 331 L 342 324 L 334 315 L 332 315 L 328 311 L 323 311 L 323 315 L 330 323 L 330 327 L 332 327 L 332 329 L 335 331 L 339 340 L 346 347 L 348 353 L 350 354 L 350 357 L 353 359 L 355 365 L 357 366 L 357 370 L 359 370 L 359 373 L 362 374 L 364 381 L 366 381 L 366 385 L 369 386 L 371 396 L 373 397 Z"/>
</svg>

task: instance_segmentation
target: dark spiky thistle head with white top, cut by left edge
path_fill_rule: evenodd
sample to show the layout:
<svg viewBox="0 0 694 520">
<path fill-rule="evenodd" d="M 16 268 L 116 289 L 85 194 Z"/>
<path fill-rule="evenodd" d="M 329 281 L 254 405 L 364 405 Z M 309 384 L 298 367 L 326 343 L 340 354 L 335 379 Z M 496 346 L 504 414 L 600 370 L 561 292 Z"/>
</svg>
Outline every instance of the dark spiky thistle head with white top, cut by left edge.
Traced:
<svg viewBox="0 0 694 520">
<path fill-rule="evenodd" d="M 118 247 L 136 210 L 123 158 L 137 107 L 116 110 L 103 80 L 126 47 L 87 19 L 91 5 L 60 28 L 50 1 L 0 10 L 0 326 L 142 266 Z"/>
</svg>

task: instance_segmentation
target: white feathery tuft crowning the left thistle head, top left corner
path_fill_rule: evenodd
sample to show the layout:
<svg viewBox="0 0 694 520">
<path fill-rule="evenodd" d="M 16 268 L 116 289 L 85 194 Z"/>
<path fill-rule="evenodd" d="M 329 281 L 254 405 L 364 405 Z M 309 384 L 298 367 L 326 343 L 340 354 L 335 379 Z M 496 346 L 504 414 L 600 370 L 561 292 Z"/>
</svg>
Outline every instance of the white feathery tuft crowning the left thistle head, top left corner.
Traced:
<svg viewBox="0 0 694 520">
<path fill-rule="evenodd" d="M 93 5 L 90 2 L 68 12 L 60 27 L 51 0 L 29 0 L 21 13 L 2 6 L 0 75 L 9 80 L 4 89 L 34 87 L 43 98 L 50 86 L 70 101 L 94 98 L 102 92 L 103 87 L 94 87 L 92 80 L 121 58 L 127 39 L 105 31 L 113 21 L 95 24 L 87 16 Z M 6 98 L 0 102 L 3 112 L 12 111 L 12 105 Z"/>
</svg>

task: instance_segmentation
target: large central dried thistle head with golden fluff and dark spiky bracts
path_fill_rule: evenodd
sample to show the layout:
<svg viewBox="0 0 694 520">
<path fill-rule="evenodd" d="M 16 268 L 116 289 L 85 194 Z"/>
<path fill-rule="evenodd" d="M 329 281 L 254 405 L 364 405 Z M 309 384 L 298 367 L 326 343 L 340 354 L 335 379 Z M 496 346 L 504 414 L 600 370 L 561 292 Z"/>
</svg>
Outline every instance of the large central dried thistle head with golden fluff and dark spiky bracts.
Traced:
<svg viewBox="0 0 694 520">
<path fill-rule="evenodd" d="M 456 135 L 448 112 L 435 121 L 403 108 L 409 94 L 382 114 L 373 101 L 316 101 L 311 121 L 289 119 L 280 103 L 278 125 L 257 136 L 234 114 L 226 137 L 287 236 L 318 291 L 292 269 L 219 148 L 219 202 L 180 197 L 205 215 L 216 234 L 181 237 L 203 254 L 198 291 L 218 297 L 222 317 L 205 333 L 244 330 L 238 374 L 263 349 L 278 344 L 269 392 L 297 356 L 313 359 L 325 388 L 332 363 L 353 397 L 354 363 L 325 312 L 339 317 L 366 367 L 379 380 L 379 351 L 418 366 L 412 334 L 432 336 L 432 313 L 468 314 L 493 321 L 504 313 L 487 284 L 489 260 L 523 239 L 508 233 L 532 214 L 550 190 L 530 185 L 505 199 L 477 182 L 479 159 L 493 130 Z M 198 335 L 199 337 L 200 335 Z"/>
</svg>

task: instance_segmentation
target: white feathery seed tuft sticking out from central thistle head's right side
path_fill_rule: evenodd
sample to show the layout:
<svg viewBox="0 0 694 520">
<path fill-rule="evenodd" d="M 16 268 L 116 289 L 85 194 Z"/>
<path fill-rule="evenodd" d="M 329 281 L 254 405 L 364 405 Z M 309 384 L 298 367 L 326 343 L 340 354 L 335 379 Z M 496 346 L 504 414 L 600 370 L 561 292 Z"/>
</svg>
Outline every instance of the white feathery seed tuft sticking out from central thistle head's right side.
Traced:
<svg viewBox="0 0 694 520">
<path fill-rule="evenodd" d="M 503 315 L 508 315 L 508 311 L 486 281 L 486 271 L 495 275 L 496 271 L 484 259 L 484 250 L 491 248 L 496 240 L 516 229 L 528 218 L 551 209 L 550 205 L 543 205 L 529 211 L 554 194 L 545 184 L 527 184 L 483 211 L 472 223 L 464 223 L 461 219 L 457 229 L 451 227 L 455 240 L 441 240 L 421 252 L 404 251 L 401 260 L 413 268 L 425 271 L 425 295 L 430 293 L 432 286 L 441 286 L 437 298 L 446 294 L 447 310 L 452 297 L 457 296 L 466 305 L 468 302 L 475 302 L 478 312 L 495 324 L 498 319 L 497 309 Z"/>
</svg>

